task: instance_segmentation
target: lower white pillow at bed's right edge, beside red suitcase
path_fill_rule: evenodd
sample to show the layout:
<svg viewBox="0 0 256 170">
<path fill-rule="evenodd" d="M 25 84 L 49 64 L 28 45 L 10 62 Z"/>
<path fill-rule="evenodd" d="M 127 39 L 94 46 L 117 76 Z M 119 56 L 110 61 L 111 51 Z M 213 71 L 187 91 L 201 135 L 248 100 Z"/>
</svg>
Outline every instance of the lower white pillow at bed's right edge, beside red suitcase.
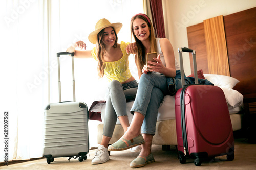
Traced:
<svg viewBox="0 0 256 170">
<path fill-rule="evenodd" d="M 230 88 L 225 88 L 225 87 L 220 87 L 220 88 L 223 90 L 225 94 L 225 98 L 228 106 L 235 108 L 243 104 L 244 97 L 240 92 Z"/>
</svg>

